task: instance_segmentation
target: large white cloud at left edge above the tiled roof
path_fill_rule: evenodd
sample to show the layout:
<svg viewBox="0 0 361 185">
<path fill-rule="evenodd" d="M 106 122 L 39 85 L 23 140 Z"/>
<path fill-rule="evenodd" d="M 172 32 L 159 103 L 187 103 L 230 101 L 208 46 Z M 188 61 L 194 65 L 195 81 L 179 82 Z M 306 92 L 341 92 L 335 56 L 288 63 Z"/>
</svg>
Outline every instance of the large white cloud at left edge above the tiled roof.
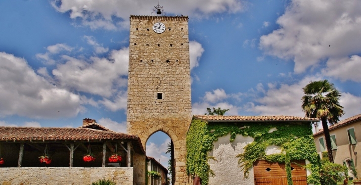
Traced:
<svg viewBox="0 0 361 185">
<path fill-rule="evenodd" d="M 0 52 L 0 116 L 73 117 L 84 110 L 80 96 L 55 87 L 22 59 Z"/>
</svg>

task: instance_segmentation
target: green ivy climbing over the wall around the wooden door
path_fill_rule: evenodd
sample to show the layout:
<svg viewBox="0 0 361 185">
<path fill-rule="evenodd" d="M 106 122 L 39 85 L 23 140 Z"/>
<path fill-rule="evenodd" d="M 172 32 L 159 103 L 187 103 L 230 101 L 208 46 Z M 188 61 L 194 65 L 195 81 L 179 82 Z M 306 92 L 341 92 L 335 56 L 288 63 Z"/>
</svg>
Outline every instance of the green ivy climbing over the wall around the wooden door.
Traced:
<svg viewBox="0 0 361 185">
<path fill-rule="evenodd" d="M 213 174 L 208 163 L 208 152 L 213 149 L 214 141 L 218 138 L 230 135 L 232 142 L 237 135 L 249 136 L 253 142 L 244 147 L 244 152 L 239 153 L 238 169 L 248 178 L 249 171 L 256 160 L 264 159 L 271 162 L 289 164 L 292 160 L 309 160 L 311 164 L 307 168 L 312 171 L 308 177 L 308 183 L 319 185 L 319 156 L 313 139 L 310 122 L 211 122 L 207 123 L 193 119 L 187 133 L 187 173 L 191 176 L 199 176 L 202 185 L 207 185 L 210 175 Z M 278 146 L 279 154 L 266 155 L 268 146 Z M 216 162 L 217 163 L 217 162 Z M 287 170 L 288 168 L 286 168 Z M 291 171 L 287 170 L 290 175 Z M 231 177 L 229 177 L 231 178 Z M 250 177 L 253 178 L 253 177 Z"/>
</svg>

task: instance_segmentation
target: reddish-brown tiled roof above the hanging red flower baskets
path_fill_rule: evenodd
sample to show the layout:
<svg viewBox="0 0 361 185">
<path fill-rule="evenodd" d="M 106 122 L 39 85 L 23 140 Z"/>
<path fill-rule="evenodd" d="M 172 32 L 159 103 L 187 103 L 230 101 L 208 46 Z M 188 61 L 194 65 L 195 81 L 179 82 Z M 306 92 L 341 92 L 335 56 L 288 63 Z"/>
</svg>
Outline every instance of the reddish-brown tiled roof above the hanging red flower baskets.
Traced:
<svg viewBox="0 0 361 185">
<path fill-rule="evenodd" d="M 140 139 L 137 136 L 130 134 L 88 128 L 0 127 L 0 141 L 95 139 L 124 139 L 126 141 L 131 141 L 137 152 L 144 153 Z"/>
</svg>

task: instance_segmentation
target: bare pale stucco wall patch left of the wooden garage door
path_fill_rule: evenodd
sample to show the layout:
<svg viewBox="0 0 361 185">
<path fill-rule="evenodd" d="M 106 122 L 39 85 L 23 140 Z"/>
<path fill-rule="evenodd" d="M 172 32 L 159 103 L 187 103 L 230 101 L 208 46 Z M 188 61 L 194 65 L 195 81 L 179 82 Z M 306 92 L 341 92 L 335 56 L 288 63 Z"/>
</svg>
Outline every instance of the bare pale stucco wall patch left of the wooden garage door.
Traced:
<svg viewBox="0 0 361 185">
<path fill-rule="evenodd" d="M 229 141 L 230 135 L 220 137 L 213 142 L 214 149 L 209 156 L 217 161 L 209 160 L 211 170 L 215 177 L 209 178 L 209 185 L 254 185 L 253 168 L 249 171 L 249 177 L 243 180 L 243 171 L 238 166 L 238 158 L 235 156 L 243 153 L 243 147 L 253 142 L 253 138 L 237 135 L 233 142 Z"/>
</svg>

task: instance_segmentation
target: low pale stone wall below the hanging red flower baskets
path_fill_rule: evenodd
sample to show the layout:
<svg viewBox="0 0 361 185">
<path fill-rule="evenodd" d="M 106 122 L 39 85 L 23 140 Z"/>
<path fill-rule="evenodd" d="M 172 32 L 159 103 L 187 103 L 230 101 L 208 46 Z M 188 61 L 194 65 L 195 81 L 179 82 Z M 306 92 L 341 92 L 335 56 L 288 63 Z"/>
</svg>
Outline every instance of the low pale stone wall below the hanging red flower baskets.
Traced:
<svg viewBox="0 0 361 185">
<path fill-rule="evenodd" d="M 90 185 L 99 179 L 133 185 L 133 167 L 0 168 L 0 185 Z"/>
</svg>

